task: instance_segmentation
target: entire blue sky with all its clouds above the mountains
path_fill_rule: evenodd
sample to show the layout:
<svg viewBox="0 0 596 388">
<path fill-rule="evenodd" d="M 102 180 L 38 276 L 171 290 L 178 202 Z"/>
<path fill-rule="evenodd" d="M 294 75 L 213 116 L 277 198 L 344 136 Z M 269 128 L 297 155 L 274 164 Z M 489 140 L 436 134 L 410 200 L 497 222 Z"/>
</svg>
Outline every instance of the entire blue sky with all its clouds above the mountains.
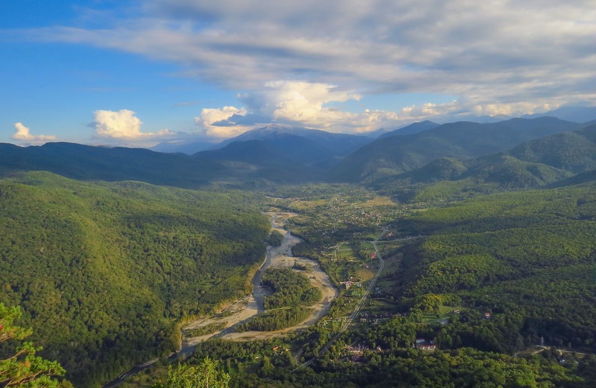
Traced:
<svg viewBox="0 0 596 388">
<path fill-rule="evenodd" d="M 594 1 L 0 2 L 0 142 L 365 134 L 596 104 Z"/>
</svg>

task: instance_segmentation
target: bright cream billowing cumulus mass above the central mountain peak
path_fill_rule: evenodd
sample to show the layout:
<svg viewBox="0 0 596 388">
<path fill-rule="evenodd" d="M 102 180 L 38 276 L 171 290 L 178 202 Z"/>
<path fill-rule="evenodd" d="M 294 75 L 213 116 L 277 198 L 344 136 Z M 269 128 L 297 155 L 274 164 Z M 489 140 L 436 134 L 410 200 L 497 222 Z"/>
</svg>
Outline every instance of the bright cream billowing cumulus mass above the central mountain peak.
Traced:
<svg viewBox="0 0 596 388">
<path fill-rule="evenodd" d="M 423 104 L 401 111 L 345 111 L 328 106 L 359 100 L 355 91 L 325 83 L 303 81 L 268 82 L 260 91 L 238 96 L 247 108 L 224 107 L 203 109 L 195 118 L 208 135 L 229 137 L 252 129 L 257 123 L 279 123 L 324 129 L 330 132 L 363 133 L 378 128 L 394 128 L 434 116 L 447 116 L 462 107 L 457 101 L 448 104 Z"/>
</svg>

